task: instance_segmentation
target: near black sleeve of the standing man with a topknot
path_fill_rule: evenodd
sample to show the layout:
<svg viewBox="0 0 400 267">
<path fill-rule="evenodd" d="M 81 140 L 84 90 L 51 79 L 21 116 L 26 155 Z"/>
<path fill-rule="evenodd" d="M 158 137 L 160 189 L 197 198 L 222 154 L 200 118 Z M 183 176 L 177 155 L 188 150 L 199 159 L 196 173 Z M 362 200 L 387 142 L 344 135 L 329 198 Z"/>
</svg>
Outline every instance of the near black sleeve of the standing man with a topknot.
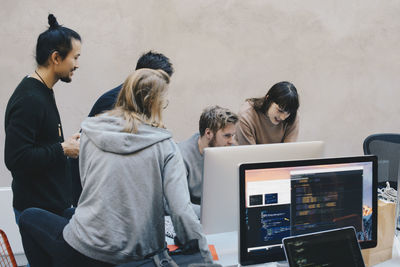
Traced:
<svg viewBox="0 0 400 267">
<path fill-rule="evenodd" d="M 43 124 L 45 109 L 34 97 L 25 96 L 8 111 L 4 160 L 10 171 L 40 170 L 54 167 L 65 161 L 59 142 L 37 144 L 37 136 Z"/>
</svg>

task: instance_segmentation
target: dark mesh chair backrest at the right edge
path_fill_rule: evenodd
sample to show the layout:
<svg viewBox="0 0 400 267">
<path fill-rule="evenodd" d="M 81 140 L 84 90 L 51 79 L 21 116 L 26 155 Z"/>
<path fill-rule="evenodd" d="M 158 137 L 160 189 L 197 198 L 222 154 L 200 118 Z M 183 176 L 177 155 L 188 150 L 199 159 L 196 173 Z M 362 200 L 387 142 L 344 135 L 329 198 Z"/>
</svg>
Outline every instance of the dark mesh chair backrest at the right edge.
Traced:
<svg viewBox="0 0 400 267">
<path fill-rule="evenodd" d="M 365 138 L 365 155 L 378 157 L 378 182 L 390 181 L 397 184 L 400 165 L 400 134 L 381 133 Z"/>
</svg>

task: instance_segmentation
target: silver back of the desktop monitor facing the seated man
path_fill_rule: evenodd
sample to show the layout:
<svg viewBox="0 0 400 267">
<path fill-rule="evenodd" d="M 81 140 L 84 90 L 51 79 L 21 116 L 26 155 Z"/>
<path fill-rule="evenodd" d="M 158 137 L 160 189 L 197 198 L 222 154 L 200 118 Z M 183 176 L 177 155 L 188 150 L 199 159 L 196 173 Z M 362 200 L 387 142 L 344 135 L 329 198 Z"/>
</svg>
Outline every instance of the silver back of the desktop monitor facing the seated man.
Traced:
<svg viewBox="0 0 400 267">
<path fill-rule="evenodd" d="M 200 221 L 206 234 L 239 229 L 239 165 L 321 158 L 324 142 L 210 147 L 204 149 Z"/>
</svg>

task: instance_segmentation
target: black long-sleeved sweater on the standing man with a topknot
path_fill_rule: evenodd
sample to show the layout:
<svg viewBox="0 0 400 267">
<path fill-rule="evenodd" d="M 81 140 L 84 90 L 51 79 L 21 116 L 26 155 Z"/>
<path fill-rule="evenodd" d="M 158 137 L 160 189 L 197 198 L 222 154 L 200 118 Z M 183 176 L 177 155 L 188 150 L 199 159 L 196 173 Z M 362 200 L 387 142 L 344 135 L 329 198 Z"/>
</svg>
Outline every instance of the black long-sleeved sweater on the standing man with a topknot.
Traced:
<svg viewBox="0 0 400 267">
<path fill-rule="evenodd" d="M 17 210 L 38 207 L 60 214 L 71 205 L 71 181 L 53 90 L 26 77 L 8 101 L 4 160 Z"/>
</svg>

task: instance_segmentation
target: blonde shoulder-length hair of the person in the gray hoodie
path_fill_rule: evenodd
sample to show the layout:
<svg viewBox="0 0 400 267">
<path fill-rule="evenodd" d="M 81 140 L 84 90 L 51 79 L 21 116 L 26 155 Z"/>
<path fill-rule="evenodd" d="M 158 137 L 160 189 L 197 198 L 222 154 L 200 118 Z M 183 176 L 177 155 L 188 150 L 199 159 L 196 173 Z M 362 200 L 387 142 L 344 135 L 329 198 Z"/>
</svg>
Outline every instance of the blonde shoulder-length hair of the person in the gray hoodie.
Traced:
<svg viewBox="0 0 400 267">
<path fill-rule="evenodd" d="M 169 76 L 162 70 L 136 70 L 126 78 L 108 114 L 124 119 L 124 132 L 136 133 L 140 123 L 164 128 L 162 109 L 168 83 Z"/>
</svg>

